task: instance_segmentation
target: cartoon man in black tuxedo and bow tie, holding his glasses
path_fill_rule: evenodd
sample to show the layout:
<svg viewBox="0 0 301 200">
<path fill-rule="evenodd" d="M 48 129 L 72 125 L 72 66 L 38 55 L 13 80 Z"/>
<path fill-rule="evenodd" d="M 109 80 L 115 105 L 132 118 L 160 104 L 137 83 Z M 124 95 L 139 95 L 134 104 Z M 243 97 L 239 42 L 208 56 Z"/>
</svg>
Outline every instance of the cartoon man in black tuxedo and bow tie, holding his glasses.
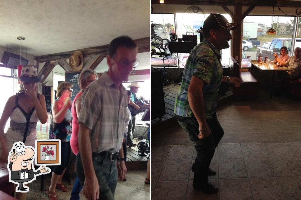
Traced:
<svg viewBox="0 0 301 200">
<path fill-rule="evenodd" d="M 8 156 L 7 168 L 9 170 L 9 181 L 18 184 L 16 192 L 28 192 L 29 187 L 24 186 L 36 179 L 36 176 L 50 173 L 48 167 L 40 167 L 33 170 L 34 148 L 24 145 L 23 142 L 15 142 Z"/>
</svg>

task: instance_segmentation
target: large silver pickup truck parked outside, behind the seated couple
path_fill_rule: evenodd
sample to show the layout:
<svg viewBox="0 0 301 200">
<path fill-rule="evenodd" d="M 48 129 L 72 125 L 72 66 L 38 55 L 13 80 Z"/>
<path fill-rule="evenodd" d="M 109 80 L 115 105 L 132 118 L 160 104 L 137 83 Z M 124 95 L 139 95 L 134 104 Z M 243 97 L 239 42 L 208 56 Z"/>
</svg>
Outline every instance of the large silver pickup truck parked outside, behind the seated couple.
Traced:
<svg viewBox="0 0 301 200">
<path fill-rule="evenodd" d="M 269 46 L 258 46 L 256 52 L 256 59 L 258 55 L 264 59 L 266 56 L 274 60 L 274 53 L 280 55 L 280 48 L 285 46 L 290 54 L 290 46 L 292 44 L 292 38 L 274 38 Z M 295 47 L 301 47 L 301 38 L 296 38 Z"/>
</svg>

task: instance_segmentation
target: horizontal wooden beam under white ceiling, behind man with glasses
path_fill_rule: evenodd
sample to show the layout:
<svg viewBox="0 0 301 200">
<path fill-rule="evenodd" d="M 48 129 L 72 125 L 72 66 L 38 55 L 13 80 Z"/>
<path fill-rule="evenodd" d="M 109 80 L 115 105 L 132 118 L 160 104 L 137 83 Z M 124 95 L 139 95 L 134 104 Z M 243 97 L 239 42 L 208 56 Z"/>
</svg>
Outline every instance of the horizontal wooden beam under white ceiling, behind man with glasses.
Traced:
<svg viewBox="0 0 301 200">
<path fill-rule="evenodd" d="M 140 38 L 134 40 L 136 44 L 138 45 L 138 53 L 144 53 L 150 51 L 150 37 L 147 38 Z M 81 51 L 83 53 L 83 56 L 89 56 L 89 55 L 101 55 L 103 57 L 107 57 L 107 50 L 109 45 L 103 45 L 98 47 L 89 47 L 84 49 L 78 49 L 74 51 Z M 38 61 L 38 63 L 42 62 L 48 62 L 52 60 L 66 60 L 68 59 L 73 51 L 65 51 L 61 53 L 55 53 L 55 54 L 49 54 L 49 55 L 43 55 L 43 56 L 36 56 L 35 60 Z"/>
</svg>

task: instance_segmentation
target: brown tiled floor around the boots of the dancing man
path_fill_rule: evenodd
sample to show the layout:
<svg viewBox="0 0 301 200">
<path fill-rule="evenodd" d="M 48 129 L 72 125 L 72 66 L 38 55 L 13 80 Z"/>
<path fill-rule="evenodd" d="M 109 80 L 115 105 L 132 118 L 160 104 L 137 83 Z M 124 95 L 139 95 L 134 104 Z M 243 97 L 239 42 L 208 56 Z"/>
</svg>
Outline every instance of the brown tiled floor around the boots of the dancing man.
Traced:
<svg viewBox="0 0 301 200">
<path fill-rule="evenodd" d="M 192 145 L 152 150 L 152 199 L 301 199 L 301 142 L 219 144 L 209 181 L 219 187 L 206 195 L 192 187 Z"/>
</svg>

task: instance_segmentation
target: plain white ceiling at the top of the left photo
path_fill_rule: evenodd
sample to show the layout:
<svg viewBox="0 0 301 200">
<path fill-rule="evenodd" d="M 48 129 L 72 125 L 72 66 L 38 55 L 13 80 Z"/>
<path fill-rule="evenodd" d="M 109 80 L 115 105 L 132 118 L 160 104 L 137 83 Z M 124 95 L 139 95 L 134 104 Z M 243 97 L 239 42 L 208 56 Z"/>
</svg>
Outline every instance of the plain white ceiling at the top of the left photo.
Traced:
<svg viewBox="0 0 301 200">
<path fill-rule="evenodd" d="M 120 35 L 150 36 L 149 0 L 2 0 L 0 10 L 0 46 L 20 49 L 23 36 L 22 52 L 34 56 L 106 45 Z M 145 54 L 139 66 L 149 69 Z"/>
</svg>

